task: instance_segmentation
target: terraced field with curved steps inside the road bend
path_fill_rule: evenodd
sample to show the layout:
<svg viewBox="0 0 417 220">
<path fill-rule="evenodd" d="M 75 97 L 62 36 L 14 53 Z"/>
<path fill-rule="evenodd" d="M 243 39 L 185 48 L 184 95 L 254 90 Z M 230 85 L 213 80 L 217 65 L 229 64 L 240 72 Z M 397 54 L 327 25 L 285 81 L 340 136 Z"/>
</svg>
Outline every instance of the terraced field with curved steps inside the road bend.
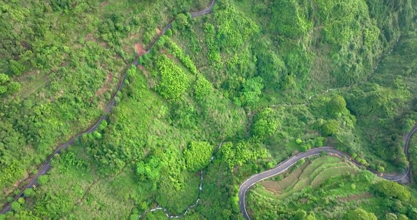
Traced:
<svg viewBox="0 0 417 220">
<path fill-rule="evenodd" d="M 271 198 L 283 199 L 303 188 L 317 187 L 337 174 L 356 173 L 356 171 L 357 168 L 354 165 L 342 158 L 323 156 L 312 161 L 306 161 L 282 180 L 267 180 L 260 183 L 269 192 L 265 192 L 262 188 L 256 189 L 256 192 Z"/>
</svg>

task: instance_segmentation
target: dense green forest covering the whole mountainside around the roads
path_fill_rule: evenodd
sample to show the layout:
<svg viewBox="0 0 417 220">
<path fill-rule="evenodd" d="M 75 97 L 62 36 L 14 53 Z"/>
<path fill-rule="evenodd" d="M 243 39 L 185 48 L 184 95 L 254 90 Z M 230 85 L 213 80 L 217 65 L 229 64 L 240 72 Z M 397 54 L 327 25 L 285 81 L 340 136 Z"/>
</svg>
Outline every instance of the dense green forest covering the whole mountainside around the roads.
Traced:
<svg viewBox="0 0 417 220">
<path fill-rule="evenodd" d="M 218 0 L 191 18 L 210 3 L 0 2 L 2 205 L 53 149 L 98 120 L 126 73 L 108 119 L 55 155 L 39 187 L 0 219 L 166 219 L 163 209 L 188 210 L 189 220 L 241 219 L 246 178 L 321 146 L 404 172 L 402 135 L 417 117 L 415 0 Z M 138 66 L 128 65 L 138 55 Z M 378 211 L 344 205 L 347 219 L 417 218 L 414 186 L 364 171 L 326 181 L 284 200 L 251 191 L 251 217 L 342 218 L 317 198 L 346 185 L 390 201 Z M 301 204 L 306 195 L 314 202 Z"/>
</svg>

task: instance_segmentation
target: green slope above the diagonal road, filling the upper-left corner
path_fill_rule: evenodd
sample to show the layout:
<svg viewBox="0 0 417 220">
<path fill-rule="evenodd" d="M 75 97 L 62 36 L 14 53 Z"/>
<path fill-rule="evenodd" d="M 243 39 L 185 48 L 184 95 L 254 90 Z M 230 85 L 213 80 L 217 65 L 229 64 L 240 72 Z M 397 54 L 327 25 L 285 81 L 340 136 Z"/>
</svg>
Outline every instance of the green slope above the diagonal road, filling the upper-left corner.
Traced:
<svg viewBox="0 0 417 220">
<path fill-rule="evenodd" d="M 2 133 L 9 138 L 2 136 L 1 140 L 8 152 L 21 153 L 2 157 L 1 198 L 11 195 L 13 185 L 24 185 L 25 181 L 16 181 L 24 180 L 26 172 L 32 173 L 59 143 L 100 117 L 126 71 L 126 63 L 136 56 L 136 43 L 149 45 L 157 28 L 166 25 L 178 10 L 193 11 L 208 5 L 208 1 L 176 5 L 164 0 L 72 3 L 65 7 L 43 0 L 2 3 L 8 8 L 3 14 L 8 21 L 4 34 L 12 37 L 9 32 L 17 32 L 13 37 L 18 37 L 14 40 L 19 45 L 10 46 L 14 52 L 1 51 L 0 69 L 19 82 L 21 89 L 3 96 L 0 122 Z M 129 26 L 127 32 L 113 32 L 118 39 L 100 31 L 111 16 L 118 16 L 119 23 Z M 8 25 L 15 28 L 8 29 Z M 9 70 L 11 58 L 25 67 L 21 75 Z"/>
</svg>

